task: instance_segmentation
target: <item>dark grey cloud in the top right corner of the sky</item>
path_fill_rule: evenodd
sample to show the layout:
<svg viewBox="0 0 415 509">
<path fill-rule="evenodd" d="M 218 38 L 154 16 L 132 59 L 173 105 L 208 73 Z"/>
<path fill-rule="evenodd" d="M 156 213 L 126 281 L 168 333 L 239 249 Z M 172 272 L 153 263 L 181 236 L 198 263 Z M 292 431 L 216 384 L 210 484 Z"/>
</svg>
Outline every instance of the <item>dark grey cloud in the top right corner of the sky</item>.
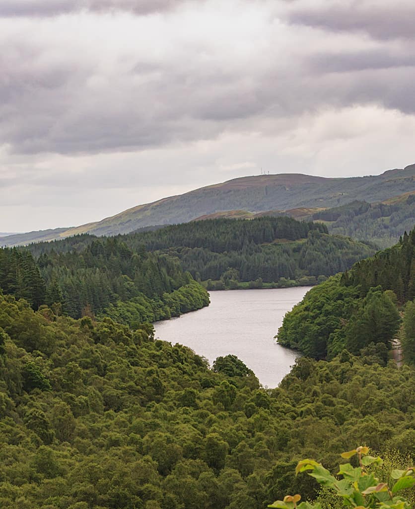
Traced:
<svg viewBox="0 0 415 509">
<path fill-rule="evenodd" d="M 334 32 L 361 31 L 374 39 L 414 39 L 413 20 L 415 5 L 390 2 L 388 6 L 365 5 L 351 2 L 349 5 L 328 5 L 319 8 L 296 8 L 287 15 L 293 24 L 317 27 Z"/>
</svg>

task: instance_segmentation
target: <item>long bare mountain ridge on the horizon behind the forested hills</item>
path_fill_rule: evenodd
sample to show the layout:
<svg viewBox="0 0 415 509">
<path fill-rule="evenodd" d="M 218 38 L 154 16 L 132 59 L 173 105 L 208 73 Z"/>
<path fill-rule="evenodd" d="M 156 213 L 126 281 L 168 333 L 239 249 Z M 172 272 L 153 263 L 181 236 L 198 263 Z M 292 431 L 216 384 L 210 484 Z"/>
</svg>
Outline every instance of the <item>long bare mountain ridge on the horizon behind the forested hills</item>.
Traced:
<svg viewBox="0 0 415 509">
<path fill-rule="evenodd" d="M 3 237 L 0 245 L 27 244 L 81 233 L 124 234 L 156 224 L 187 222 L 218 211 L 255 213 L 300 207 L 332 208 L 354 200 L 374 203 L 409 191 L 415 191 L 415 164 L 367 177 L 324 178 L 302 174 L 241 177 L 138 205 L 79 227 Z"/>
</svg>

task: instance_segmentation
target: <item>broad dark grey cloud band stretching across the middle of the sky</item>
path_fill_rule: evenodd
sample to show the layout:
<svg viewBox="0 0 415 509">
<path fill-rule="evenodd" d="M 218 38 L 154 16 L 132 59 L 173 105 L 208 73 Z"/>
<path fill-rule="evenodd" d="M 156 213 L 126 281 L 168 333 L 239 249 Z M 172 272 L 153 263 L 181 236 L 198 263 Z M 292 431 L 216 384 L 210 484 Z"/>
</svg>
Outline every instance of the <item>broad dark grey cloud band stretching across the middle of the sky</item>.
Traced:
<svg viewBox="0 0 415 509">
<path fill-rule="evenodd" d="M 249 77 L 224 77 L 203 66 L 187 74 L 183 63 L 166 64 L 144 73 L 139 85 L 115 75 L 98 92 L 86 86 L 94 69 L 85 64 L 51 64 L 47 75 L 36 65 L 16 66 L 0 81 L 0 139 L 14 153 L 93 154 L 255 130 L 255 118 L 292 117 L 327 106 L 376 103 L 415 112 L 411 61 L 390 70 L 390 59 L 382 64 L 382 55 L 370 56 L 319 54 L 308 69 L 304 62 L 305 70 L 293 66 L 287 73 L 276 66 L 247 70 Z"/>
</svg>

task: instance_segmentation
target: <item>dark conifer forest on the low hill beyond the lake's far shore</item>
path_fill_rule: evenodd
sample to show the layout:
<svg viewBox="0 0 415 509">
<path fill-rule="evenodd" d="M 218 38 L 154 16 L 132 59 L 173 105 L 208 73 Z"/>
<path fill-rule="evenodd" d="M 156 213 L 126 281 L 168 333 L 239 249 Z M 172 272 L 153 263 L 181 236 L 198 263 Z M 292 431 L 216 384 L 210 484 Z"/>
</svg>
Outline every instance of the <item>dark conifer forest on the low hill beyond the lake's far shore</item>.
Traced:
<svg viewBox="0 0 415 509">
<path fill-rule="evenodd" d="M 309 286 L 373 254 L 371 244 L 328 235 L 321 223 L 282 217 L 208 219 L 115 237 L 134 251 L 178 259 L 208 290 Z M 81 251 L 94 237 L 29 246 L 45 253 Z"/>
</svg>

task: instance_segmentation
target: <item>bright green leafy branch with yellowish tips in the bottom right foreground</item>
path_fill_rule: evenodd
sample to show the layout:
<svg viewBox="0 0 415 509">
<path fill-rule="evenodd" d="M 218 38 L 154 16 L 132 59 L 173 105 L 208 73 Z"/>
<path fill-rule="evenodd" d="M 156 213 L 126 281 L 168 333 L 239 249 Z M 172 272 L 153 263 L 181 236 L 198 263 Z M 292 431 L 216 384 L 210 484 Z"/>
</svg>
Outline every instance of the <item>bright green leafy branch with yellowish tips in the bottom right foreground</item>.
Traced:
<svg viewBox="0 0 415 509">
<path fill-rule="evenodd" d="M 379 483 L 373 473 L 366 472 L 365 467 L 377 464 L 381 465 L 382 460 L 377 457 L 369 456 L 368 447 L 357 447 L 341 456 L 350 459 L 357 455 L 359 466 L 353 467 L 350 463 L 340 465 L 337 475 L 343 476 L 342 479 L 334 477 L 329 470 L 325 469 L 320 463 L 314 460 L 302 460 L 295 468 L 295 475 L 300 472 L 308 472 L 317 482 L 343 499 L 343 505 L 354 507 L 355 509 L 410 509 L 405 498 L 396 495 L 398 491 L 411 488 L 415 485 L 415 467 L 409 467 L 406 470 L 392 470 L 391 478 L 395 480 L 390 488 L 386 483 Z M 321 509 L 320 503 L 297 502 L 301 500 L 301 495 L 287 495 L 284 500 L 277 500 L 268 507 L 277 509 Z"/>
</svg>

